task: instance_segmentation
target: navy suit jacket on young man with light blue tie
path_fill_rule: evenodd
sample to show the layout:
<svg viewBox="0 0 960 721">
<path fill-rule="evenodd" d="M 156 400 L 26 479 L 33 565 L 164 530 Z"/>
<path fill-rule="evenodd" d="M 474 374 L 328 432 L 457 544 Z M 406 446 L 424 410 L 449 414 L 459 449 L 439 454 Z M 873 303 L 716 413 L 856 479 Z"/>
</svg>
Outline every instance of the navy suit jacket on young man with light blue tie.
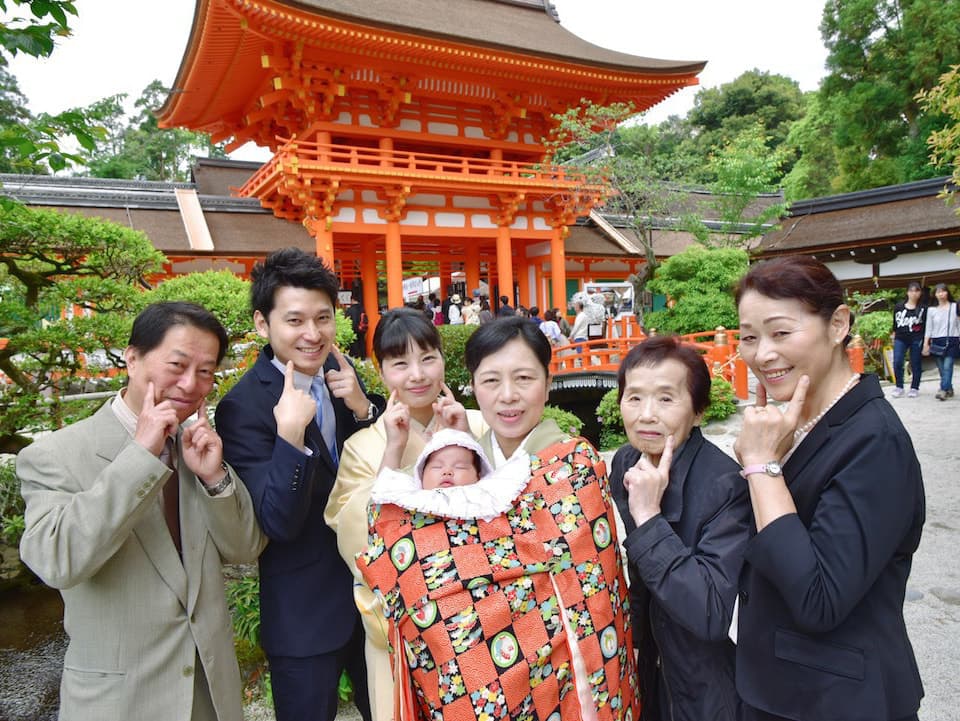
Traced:
<svg viewBox="0 0 960 721">
<path fill-rule="evenodd" d="M 260 528 L 270 543 L 260 556 L 260 642 L 268 655 L 315 656 L 350 639 L 359 614 L 353 576 L 337 552 L 337 538 L 323 520 L 337 469 L 316 421 L 307 426 L 307 455 L 277 436 L 273 407 L 283 374 L 265 346 L 254 366 L 217 405 L 223 454 L 253 498 Z M 324 372 L 339 369 L 331 355 Z M 331 397 L 337 448 L 357 429 L 346 404 Z M 371 400 L 382 406 L 379 396 Z"/>
</svg>

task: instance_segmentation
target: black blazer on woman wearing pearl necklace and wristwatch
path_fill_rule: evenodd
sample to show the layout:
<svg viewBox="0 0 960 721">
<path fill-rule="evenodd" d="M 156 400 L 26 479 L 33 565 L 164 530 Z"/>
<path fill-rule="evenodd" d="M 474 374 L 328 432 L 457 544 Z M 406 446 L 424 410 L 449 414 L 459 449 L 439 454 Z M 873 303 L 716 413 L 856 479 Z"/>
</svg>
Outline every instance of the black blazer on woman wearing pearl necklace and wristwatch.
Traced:
<svg viewBox="0 0 960 721">
<path fill-rule="evenodd" d="M 916 713 L 903 598 L 925 507 L 920 464 L 877 378 L 862 376 L 784 465 L 797 513 L 747 545 L 737 690 L 805 721 Z"/>
</svg>

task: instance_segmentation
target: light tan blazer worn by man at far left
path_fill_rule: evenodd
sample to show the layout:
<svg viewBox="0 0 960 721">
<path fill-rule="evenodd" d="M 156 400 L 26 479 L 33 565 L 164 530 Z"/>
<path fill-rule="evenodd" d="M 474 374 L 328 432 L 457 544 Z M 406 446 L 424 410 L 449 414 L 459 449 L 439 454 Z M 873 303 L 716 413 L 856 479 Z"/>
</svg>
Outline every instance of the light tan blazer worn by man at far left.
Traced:
<svg viewBox="0 0 960 721">
<path fill-rule="evenodd" d="M 162 509 L 171 471 L 111 403 L 17 457 L 20 553 L 63 595 L 61 719 L 242 718 L 221 563 L 254 561 L 266 538 L 237 478 L 232 494 L 211 497 L 185 464 L 179 473 L 182 562 Z"/>
</svg>

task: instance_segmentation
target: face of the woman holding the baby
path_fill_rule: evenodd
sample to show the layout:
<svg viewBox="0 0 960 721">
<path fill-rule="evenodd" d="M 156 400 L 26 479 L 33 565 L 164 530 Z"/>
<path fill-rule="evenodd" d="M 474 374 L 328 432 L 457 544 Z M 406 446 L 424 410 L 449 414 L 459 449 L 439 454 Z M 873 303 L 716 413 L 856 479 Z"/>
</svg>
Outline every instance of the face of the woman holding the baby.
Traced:
<svg viewBox="0 0 960 721">
<path fill-rule="evenodd" d="M 473 392 L 483 419 L 509 458 L 543 417 L 549 376 L 520 338 L 486 356 L 473 374 Z"/>
</svg>

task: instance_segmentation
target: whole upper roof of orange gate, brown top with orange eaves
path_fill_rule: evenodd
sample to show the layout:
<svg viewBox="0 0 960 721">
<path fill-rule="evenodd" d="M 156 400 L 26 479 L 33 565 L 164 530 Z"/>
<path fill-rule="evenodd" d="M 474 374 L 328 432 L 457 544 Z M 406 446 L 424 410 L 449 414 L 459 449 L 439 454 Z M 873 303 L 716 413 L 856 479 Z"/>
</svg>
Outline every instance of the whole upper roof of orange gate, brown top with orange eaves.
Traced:
<svg viewBox="0 0 960 721">
<path fill-rule="evenodd" d="M 269 62 L 296 68 L 301 60 L 319 63 L 340 93 L 349 92 L 344 88 L 351 82 L 362 84 L 368 69 L 379 65 L 426 83 L 415 93 L 432 92 L 434 75 L 470 78 L 472 85 L 490 86 L 476 90 L 485 102 L 493 102 L 490 93 L 506 93 L 499 98 L 505 100 L 526 89 L 537 99 L 521 105 L 539 103 L 548 113 L 584 97 L 632 102 L 641 112 L 695 85 L 705 65 L 602 48 L 564 28 L 550 10 L 536 0 L 197 0 L 173 90 L 157 116 L 161 127 L 218 137 L 268 122 L 261 116 L 275 110 L 278 70 L 264 64 L 265 53 L 287 50 L 297 58 Z M 303 72 L 322 74 L 319 66 Z M 292 85 L 320 77 L 297 76 Z"/>
</svg>

